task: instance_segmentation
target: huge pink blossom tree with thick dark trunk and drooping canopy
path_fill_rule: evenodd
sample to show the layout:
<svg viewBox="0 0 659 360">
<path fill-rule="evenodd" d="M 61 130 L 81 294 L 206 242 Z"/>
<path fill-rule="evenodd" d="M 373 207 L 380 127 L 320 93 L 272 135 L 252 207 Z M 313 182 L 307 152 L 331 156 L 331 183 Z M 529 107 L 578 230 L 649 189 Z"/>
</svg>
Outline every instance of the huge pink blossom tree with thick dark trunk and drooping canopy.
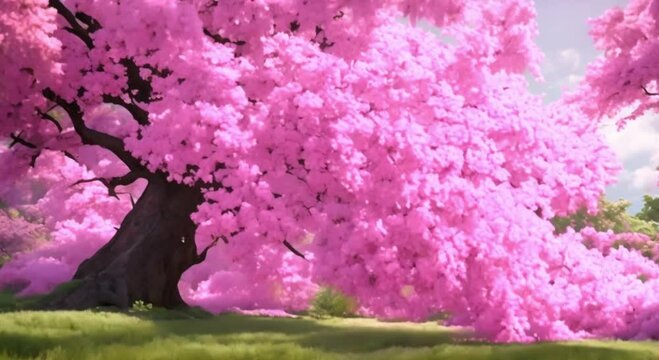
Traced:
<svg viewBox="0 0 659 360">
<path fill-rule="evenodd" d="M 587 109 L 528 92 L 531 1 L 0 5 L 3 181 L 84 165 L 63 178 L 88 195 L 53 184 L 44 209 L 117 227 L 50 306 L 285 306 L 328 284 L 364 314 L 448 311 L 496 341 L 657 337 L 656 263 L 554 234 L 619 166 Z"/>
</svg>

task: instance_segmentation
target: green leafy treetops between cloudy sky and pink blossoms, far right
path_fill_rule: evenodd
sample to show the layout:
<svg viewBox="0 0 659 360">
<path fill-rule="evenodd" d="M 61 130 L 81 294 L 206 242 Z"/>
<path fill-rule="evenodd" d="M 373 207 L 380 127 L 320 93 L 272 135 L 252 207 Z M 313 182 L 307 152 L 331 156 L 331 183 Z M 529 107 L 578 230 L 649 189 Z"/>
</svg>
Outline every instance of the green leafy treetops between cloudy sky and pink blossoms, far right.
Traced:
<svg viewBox="0 0 659 360">
<path fill-rule="evenodd" d="M 650 209 L 648 205 L 648 201 L 650 200 L 648 198 L 654 201 L 651 197 L 646 196 L 646 206 L 644 206 L 644 209 L 646 207 Z M 657 233 L 659 233 L 659 223 L 646 220 L 648 218 L 647 216 L 650 215 L 643 218 L 629 215 L 627 212 L 629 205 L 630 202 L 626 200 L 611 202 L 602 198 L 597 214 L 588 214 L 585 209 L 581 209 L 570 216 L 557 216 L 552 219 L 552 223 L 558 234 L 564 233 L 568 227 L 579 231 L 586 226 L 591 226 L 597 231 L 612 230 L 614 233 L 638 232 L 648 235 L 651 238 L 656 237 Z M 646 213 L 654 214 L 651 210 L 647 210 Z"/>
</svg>

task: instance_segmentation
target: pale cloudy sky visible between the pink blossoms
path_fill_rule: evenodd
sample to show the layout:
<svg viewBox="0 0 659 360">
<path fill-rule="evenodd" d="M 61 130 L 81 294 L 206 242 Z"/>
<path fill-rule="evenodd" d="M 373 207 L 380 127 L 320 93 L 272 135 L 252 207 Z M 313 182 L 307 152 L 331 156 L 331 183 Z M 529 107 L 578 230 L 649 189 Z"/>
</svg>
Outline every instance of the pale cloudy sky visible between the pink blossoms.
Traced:
<svg viewBox="0 0 659 360">
<path fill-rule="evenodd" d="M 589 18 L 601 15 L 625 0 L 537 0 L 539 36 L 537 43 L 545 53 L 542 64 L 544 83 L 531 81 L 531 91 L 556 100 L 566 87 L 579 82 L 586 65 L 598 56 L 588 35 Z M 606 121 L 600 131 L 622 162 L 624 170 L 618 183 L 606 191 L 609 200 L 629 200 L 630 211 L 643 205 L 643 195 L 659 196 L 659 114 L 648 114 L 618 131 L 615 119 Z"/>
</svg>

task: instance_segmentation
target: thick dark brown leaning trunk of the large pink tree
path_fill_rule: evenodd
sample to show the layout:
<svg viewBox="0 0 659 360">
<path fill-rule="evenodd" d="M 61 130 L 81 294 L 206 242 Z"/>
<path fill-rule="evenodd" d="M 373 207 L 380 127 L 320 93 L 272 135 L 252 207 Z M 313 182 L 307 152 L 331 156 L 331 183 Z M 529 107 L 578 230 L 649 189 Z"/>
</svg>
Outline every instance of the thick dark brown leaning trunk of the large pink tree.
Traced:
<svg viewBox="0 0 659 360">
<path fill-rule="evenodd" d="M 71 291 L 51 308 L 127 308 L 141 300 L 154 306 L 183 305 L 181 275 L 199 259 L 190 219 L 201 191 L 153 177 L 114 237 L 78 267 Z"/>
</svg>

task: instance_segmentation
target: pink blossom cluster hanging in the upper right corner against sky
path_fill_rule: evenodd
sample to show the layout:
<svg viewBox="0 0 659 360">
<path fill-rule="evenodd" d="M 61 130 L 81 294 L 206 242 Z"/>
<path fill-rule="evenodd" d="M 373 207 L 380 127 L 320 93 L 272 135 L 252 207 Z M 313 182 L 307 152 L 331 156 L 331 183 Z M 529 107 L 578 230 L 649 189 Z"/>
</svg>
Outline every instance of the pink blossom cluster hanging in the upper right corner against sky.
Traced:
<svg viewBox="0 0 659 360">
<path fill-rule="evenodd" d="M 597 117 L 616 116 L 630 107 L 619 125 L 659 104 L 659 1 L 630 0 L 591 23 L 595 46 L 603 52 L 588 67 L 585 84 L 578 89 L 588 112 Z"/>
</svg>

